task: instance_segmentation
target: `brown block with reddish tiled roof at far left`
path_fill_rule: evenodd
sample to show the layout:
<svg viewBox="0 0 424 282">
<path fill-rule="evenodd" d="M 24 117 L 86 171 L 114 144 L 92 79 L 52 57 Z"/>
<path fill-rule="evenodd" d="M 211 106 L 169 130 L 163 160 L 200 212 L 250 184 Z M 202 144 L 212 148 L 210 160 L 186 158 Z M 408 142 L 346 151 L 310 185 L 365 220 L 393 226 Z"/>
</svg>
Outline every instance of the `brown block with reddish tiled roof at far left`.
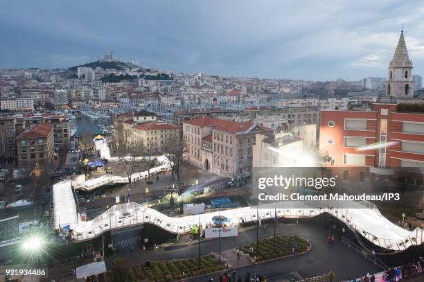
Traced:
<svg viewBox="0 0 424 282">
<path fill-rule="evenodd" d="M 48 166 L 54 154 L 53 125 L 38 123 L 28 127 L 16 137 L 19 168 Z"/>
</svg>

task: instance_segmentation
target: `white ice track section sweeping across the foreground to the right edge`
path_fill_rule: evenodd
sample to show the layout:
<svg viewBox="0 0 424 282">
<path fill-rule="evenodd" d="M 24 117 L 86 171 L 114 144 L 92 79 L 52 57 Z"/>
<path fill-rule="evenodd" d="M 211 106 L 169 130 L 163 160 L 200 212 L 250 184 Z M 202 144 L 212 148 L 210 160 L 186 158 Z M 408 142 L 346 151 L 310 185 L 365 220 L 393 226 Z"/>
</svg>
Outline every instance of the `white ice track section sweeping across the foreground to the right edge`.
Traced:
<svg viewBox="0 0 424 282">
<path fill-rule="evenodd" d="M 107 146 L 100 148 L 109 150 Z M 134 227 L 139 224 L 150 223 L 170 233 L 187 233 L 194 224 L 206 224 L 214 215 L 224 215 L 233 222 L 256 222 L 275 217 L 275 209 L 263 209 L 258 206 L 215 211 L 201 215 L 188 215 L 171 218 L 154 209 L 145 208 L 137 203 L 116 204 L 99 215 L 97 218 L 84 222 L 76 213 L 76 204 L 71 199 L 72 187 L 70 181 L 58 182 L 53 185 L 53 205 L 55 214 L 55 228 L 71 225 L 73 240 L 85 241 L 99 236 L 101 233 L 125 227 Z M 357 209 L 339 209 L 326 207 L 322 209 L 288 208 L 276 209 L 279 218 L 309 218 L 321 213 L 329 213 L 342 220 L 350 229 L 357 231 L 373 244 L 394 251 L 403 251 L 413 245 L 424 243 L 423 229 L 407 231 L 383 217 L 371 203 L 357 202 Z M 258 215 L 258 218 L 256 218 Z"/>
</svg>

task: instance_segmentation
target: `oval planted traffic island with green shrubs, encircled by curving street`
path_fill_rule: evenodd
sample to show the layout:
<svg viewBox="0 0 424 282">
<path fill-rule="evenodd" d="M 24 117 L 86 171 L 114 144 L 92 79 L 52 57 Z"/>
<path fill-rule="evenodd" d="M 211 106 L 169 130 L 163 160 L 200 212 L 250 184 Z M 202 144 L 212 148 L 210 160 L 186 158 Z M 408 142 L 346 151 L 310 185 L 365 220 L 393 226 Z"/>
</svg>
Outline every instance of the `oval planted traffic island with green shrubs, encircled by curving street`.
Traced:
<svg viewBox="0 0 424 282">
<path fill-rule="evenodd" d="M 258 249 L 256 247 L 258 246 Z M 238 248 L 243 254 L 248 254 L 252 261 L 260 263 L 285 256 L 303 254 L 310 250 L 310 243 L 300 236 L 274 236 L 249 243 Z"/>
</svg>

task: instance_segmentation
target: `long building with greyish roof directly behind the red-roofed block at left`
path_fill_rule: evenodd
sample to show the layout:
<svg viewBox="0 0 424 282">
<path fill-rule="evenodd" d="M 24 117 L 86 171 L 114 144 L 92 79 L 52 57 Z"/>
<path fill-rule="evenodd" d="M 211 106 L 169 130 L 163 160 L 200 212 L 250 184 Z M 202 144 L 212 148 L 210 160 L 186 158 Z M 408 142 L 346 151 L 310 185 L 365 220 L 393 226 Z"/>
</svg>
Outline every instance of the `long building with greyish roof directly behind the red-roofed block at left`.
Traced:
<svg viewBox="0 0 424 282">
<path fill-rule="evenodd" d="M 24 123 L 24 127 L 37 123 L 51 123 L 53 125 L 53 142 L 55 150 L 69 148 L 71 144 L 71 130 L 69 118 L 56 113 L 24 113 L 16 115 L 17 123 Z"/>
</svg>

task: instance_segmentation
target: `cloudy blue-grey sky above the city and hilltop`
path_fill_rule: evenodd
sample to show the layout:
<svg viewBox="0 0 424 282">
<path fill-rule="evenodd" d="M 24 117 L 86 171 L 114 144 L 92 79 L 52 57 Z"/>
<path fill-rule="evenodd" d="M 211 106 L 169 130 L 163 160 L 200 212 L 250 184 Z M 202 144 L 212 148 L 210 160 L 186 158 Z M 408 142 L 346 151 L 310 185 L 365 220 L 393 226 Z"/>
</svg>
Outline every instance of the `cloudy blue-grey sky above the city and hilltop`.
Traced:
<svg viewBox="0 0 424 282">
<path fill-rule="evenodd" d="M 404 25 L 424 75 L 424 1 L 1 1 L 0 68 L 66 68 L 114 49 L 143 67 L 222 76 L 387 76 Z"/>
</svg>

